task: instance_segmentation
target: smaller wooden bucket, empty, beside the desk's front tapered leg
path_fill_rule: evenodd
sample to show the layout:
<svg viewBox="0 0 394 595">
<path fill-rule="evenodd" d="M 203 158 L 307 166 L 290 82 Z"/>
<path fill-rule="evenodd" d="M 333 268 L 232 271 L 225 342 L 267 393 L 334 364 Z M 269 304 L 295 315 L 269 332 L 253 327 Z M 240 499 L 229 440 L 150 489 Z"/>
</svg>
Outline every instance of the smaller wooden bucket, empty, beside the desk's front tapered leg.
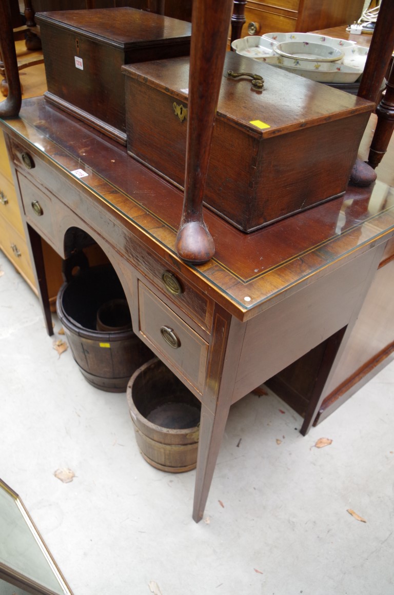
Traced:
<svg viewBox="0 0 394 595">
<path fill-rule="evenodd" d="M 194 469 L 199 400 L 158 358 L 134 372 L 126 394 L 137 444 L 145 461 L 171 473 Z"/>
</svg>

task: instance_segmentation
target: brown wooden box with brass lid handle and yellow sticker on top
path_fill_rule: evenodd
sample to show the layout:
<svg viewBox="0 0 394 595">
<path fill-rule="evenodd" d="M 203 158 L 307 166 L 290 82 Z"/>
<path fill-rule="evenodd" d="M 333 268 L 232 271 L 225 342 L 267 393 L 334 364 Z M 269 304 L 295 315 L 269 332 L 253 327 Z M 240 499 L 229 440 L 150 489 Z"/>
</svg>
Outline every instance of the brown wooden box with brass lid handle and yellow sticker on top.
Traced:
<svg viewBox="0 0 394 595">
<path fill-rule="evenodd" d="M 189 58 L 133 64 L 127 151 L 183 186 Z M 258 74 L 232 79 L 227 71 Z M 139 109 L 134 108 L 135 105 Z M 243 231 L 342 195 L 374 104 L 227 52 L 204 203 Z"/>
</svg>

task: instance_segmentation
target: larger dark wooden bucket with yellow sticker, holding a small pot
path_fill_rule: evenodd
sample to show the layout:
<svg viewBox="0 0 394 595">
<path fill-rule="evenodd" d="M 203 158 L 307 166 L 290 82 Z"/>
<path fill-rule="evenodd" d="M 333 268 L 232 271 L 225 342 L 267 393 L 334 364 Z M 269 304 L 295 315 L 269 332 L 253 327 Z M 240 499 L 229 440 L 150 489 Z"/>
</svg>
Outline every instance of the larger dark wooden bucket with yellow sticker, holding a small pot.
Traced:
<svg viewBox="0 0 394 595">
<path fill-rule="evenodd" d="M 131 327 L 130 312 L 119 330 L 96 330 L 98 311 L 112 300 L 125 300 L 123 287 L 111 265 L 87 268 L 71 276 L 57 296 L 57 314 L 83 376 L 97 389 L 125 392 L 133 372 L 153 353 Z M 127 303 L 127 302 L 126 302 Z M 128 317 L 127 317 L 128 315 Z M 116 320 L 116 317 L 114 317 Z"/>
</svg>

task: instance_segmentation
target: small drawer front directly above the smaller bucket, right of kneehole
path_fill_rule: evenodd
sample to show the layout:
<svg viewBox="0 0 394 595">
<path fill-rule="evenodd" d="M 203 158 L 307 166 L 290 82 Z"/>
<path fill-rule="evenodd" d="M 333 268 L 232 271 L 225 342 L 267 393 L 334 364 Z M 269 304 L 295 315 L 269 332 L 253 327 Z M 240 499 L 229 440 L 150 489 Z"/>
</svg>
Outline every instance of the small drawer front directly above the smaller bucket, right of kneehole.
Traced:
<svg viewBox="0 0 394 595">
<path fill-rule="evenodd" d="M 139 332 L 202 393 L 208 343 L 141 282 L 138 298 Z"/>
</svg>

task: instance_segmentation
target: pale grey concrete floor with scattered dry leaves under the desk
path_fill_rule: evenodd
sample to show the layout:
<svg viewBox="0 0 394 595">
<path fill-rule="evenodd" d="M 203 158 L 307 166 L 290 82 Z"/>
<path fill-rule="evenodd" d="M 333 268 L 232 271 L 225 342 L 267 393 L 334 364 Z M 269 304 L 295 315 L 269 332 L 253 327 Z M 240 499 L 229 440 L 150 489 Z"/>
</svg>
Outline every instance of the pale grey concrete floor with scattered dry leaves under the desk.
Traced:
<svg viewBox="0 0 394 595">
<path fill-rule="evenodd" d="M 307 437 L 274 394 L 237 402 L 195 524 L 195 472 L 142 459 L 125 394 L 58 356 L 1 252 L 0 271 L 0 477 L 74 595 L 393 595 L 394 364 Z"/>
</svg>

